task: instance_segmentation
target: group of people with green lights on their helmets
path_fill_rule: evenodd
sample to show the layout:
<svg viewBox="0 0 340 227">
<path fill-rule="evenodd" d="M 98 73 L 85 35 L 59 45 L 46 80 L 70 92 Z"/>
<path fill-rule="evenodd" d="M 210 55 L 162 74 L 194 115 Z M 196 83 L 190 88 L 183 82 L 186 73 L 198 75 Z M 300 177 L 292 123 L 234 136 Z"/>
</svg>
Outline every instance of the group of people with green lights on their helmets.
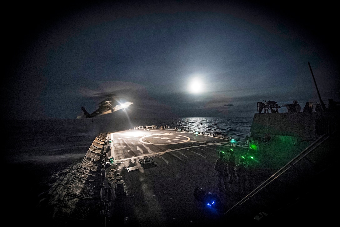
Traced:
<svg viewBox="0 0 340 227">
<path fill-rule="evenodd" d="M 228 151 L 228 154 L 223 151 L 219 152 L 219 158 L 215 163 L 217 173 L 217 184 L 221 192 L 229 192 L 228 183 L 234 184 L 237 188 L 237 194 L 244 194 L 245 191 L 253 190 L 259 185 L 259 167 L 254 161 L 254 152 L 249 149 L 249 152 L 241 156 L 236 164 L 236 156 L 233 149 Z M 223 189 L 224 186 L 224 189 Z"/>
</svg>

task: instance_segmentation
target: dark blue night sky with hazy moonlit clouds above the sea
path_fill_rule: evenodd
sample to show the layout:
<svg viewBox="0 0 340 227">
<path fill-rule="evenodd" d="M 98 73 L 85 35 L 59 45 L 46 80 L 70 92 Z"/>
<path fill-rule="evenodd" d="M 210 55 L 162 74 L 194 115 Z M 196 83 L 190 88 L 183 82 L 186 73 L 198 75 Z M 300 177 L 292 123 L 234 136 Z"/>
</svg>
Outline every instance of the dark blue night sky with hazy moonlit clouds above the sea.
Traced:
<svg viewBox="0 0 340 227">
<path fill-rule="evenodd" d="M 308 62 L 325 104 L 340 101 L 335 5 L 237 2 L 12 3 L 3 119 L 74 119 L 103 93 L 133 100 L 126 112 L 138 118 L 253 116 L 262 100 L 303 107 L 319 102 Z M 194 78 L 200 93 L 188 89 Z"/>
</svg>

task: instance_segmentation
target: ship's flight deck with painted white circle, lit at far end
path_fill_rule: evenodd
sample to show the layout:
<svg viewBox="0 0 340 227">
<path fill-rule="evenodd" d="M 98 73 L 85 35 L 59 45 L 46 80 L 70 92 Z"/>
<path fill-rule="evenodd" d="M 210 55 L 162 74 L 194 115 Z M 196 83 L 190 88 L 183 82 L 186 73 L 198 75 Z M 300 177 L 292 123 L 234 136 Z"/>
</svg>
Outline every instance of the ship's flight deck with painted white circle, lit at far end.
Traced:
<svg viewBox="0 0 340 227">
<path fill-rule="evenodd" d="M 106 172 L 113 172 L 114 178 L 117 173 L 122 176 L 126 194 L 116 195 L 109 222 L 131 226 L 220 224 L 223 213 L 240 199 L 235 185 L 229 184 L 229 194 L 217 187 L 214 166 L 219 151 L 233 148 L 228 139 L 172 129 L 128 130 L 109 133 L 108 138 L 115 161 Z M 236 156 L 247 151 L 234 150 Z M 146 157 L 155 165 L 141 166 L 139 160 Z M 117 186 L 115 179 L 110 181 Z M 222 209 L 214 210 L 195 199 L 197 186 L 218 195 Z"/>
</svg>

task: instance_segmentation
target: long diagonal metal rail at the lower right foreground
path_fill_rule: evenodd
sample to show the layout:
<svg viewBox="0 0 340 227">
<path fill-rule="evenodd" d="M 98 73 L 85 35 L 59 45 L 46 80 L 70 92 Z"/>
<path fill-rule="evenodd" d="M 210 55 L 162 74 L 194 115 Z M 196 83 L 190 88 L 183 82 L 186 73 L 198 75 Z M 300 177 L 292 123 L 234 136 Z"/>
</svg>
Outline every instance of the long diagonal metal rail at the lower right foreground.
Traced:
<svg viewBox="0 0 340 227">
<path fill-rule="evenodd" d="M 282 175 L 284 172 L 286 172 L 288 169 L 293 167 L 296 163 L 300 162 L 306 155 L 308 155 L 310 152 L 312 152 L 314 149 L 319 147 L 325 140 L 327 140 L 330 137 L 330 135 L 322 135 L 320 136 L 316 141 L 314 141 L 311 145 L 309 145 L 306 149 L 304 149 L 300 154 L 295 156 L 290 162 L 288 162 L 285 166 L 280 168 L 278 171 L 276 171 L 271 177 L 269 177 L 265 182 L 260 184 L 258 187 L 256 187 L 252 192 L 250 192 L 248 195 L 246 195 L 243 199 L 241 199 L 238 203 L 236 203 L 232 208 L 230 208 L 228 211 L 224 213 L 227 214 L 229 211 L 231 211 L 236 206 L 240 206 L 242 203 L 244 203 L 246 200 L 250 199 L 252 196 L 254 196 L 256 193 L 261 191 L 263 188 L 265 188 L 268 184 L 273 182 L 275 179 L 277 179 L 280 175 Z M 309 161 L 309 160 L 308 160 Z"/>
</svg>

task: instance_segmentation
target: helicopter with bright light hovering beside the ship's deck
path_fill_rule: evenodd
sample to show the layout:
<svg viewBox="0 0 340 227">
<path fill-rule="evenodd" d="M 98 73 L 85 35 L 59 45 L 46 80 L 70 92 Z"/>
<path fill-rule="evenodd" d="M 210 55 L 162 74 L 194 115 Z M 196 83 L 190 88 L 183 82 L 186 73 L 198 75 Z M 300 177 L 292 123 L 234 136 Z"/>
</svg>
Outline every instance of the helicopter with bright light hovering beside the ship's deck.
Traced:
<svg viewBox="0 0 340 227">
<path fill-rule="evenodd" d="M 114 101 L 114 98 L 112 96 L 107 97 L 105 100 L 101 101 L 98 105 L 98 109 L 95 110 L 92 113 L 87 112 L 87 110 L 85 109 L 85 107 L 81 107 L 81 109 L 84 112 L 84 116 L 85 118 L 93 118 L 96 116 L 100 116 L 100 115 L 104 115 L 107 113 L 112 113 L 115 112 L 117 110 L 120 109 L 124 109 L 124 108 L 128 108 L 131 104 L 133 104 L 133 101 L 129 101 L 129 102 L 124 102 L 124 103 L 119 103 L 119 105 L 113 106 L 112 102 Z"/>
</svg>

